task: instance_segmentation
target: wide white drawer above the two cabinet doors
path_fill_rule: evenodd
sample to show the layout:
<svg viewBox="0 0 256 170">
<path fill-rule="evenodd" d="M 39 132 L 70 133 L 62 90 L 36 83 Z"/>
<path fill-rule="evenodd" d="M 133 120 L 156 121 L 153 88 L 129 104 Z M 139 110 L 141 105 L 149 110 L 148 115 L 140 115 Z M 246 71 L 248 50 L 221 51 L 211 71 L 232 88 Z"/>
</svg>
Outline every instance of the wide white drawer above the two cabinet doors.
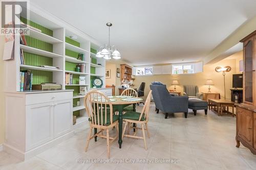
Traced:
<svg viewBox="0 0 256 170">
<path fill-rule="evenodd" d="M 73 98 L 73 91 L 34 93 L 26 95 L 26 105 L 68 100 Z"/>
</svg>

